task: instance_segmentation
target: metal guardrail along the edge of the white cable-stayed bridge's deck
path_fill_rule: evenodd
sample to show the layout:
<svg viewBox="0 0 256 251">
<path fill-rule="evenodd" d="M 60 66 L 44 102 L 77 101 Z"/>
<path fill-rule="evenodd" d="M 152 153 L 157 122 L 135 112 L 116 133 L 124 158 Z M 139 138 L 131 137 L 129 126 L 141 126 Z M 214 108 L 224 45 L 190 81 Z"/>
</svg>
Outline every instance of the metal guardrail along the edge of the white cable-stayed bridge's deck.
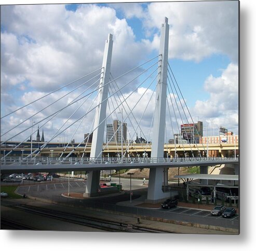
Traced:
<svg viewBox="0 0 256 251">
<path fill-rule="evenodd" d="M 43 164 L 122 164 L 122 163 L 164 163 L 164 162 L 211 162 L 211 161 L 238 161 L 234 157 L 212 157 L 212 158 L 58 158 L 58 157 L 36 157 L 36 158 L 22 158 L 22 157 L 2 157 L 1 164 L 11 165 L 43 165 Z"/>
</svg>

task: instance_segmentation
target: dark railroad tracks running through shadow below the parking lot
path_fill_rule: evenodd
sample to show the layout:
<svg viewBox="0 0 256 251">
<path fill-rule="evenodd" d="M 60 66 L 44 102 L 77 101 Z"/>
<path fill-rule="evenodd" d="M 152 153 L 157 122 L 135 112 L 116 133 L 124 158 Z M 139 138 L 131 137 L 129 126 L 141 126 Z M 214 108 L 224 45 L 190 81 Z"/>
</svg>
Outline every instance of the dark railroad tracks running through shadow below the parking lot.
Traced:
<svg viewBox="0 0 256 251">
<path fill-rule="evenodd" d="M 56 210 L 49 210 L 46 208 L 39 208 L 36 206 L 31 206 L 26 204 L 12 205 L 10 207 L 15 208 L 16 210 L 25 211 L 27 213 L 41 215 L 44 217 L 58 219 L 58 220 L 70 222 L 73 224 L 92 227 L 92 228 L 101 229 L 109 232 L 170 233 L 166 231 L 140 227 L 139 225 L 124 224 L 122 222 L 114 222 L 106 219 L 99 219 L 99 218 L 88 217 L 88 216 L 71 215 L 70 213 L 65 213 L 65 212 L 56 211 Z"/>
</svg>

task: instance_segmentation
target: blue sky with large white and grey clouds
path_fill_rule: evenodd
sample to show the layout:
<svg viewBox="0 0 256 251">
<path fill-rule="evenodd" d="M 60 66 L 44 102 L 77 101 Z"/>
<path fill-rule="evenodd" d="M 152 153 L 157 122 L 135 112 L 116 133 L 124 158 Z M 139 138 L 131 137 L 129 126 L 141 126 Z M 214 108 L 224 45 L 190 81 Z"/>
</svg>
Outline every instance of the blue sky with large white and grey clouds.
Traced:
<svg viewBox="0 0 256 251">
<path fill-rule="evenodd" d="M 208 127 L 208 135 L 217 135 L 220 125 L 238 134 L 238 1 L 1 6 L 1 117 L 99 69 L 109 33 L 114 40 L 111 65 L 114 78 L 156 57 L 164 17 L 169 19 L 170 25 L 169 64 L 194 122 L 203 121 L 204 127 Z M 136 69 L 130 76 L 117 80 L 117 85 L 121 87 L 142 71 L 143 67 Z M 126 86 L 123 95 L 128 96 L 142 79 Z M 147 86 L 141 86 L 133 98 L 127 100 L 129 105 L 139 100 L 139 94 Z M 77 93 L 41 111 L 72 88 L 61 89 L 2 119 L 1 135 L 37 112 L 33 120 L 39 122 L 42 117 L 64 107 Z M 152 99 L 141 122 L 144 134 L 150 130 L 153 90 L 151 86 L 139 108 L 133 111 L 139 120 L 148 100 Z M 77 91 L 82 92 L 81 89 Z M 93 100 L 93 95 L 89 100 Z M 89 102 L 85 102 L 71 121 L 83 117 L 89 108 Z M 72 109 L 69 107 L 43 125 L 46 140 L 60 129 Z M 113 114 L 113 119 L 115 116 L 118 117 Z M 74 136 L 77 142 L 90 131 L 92 121 L 91 113 L 83 120 L 83 127 L 77 129 Z M 128 120 L 127 123 L 131 128 Z M 3 139 L 30 124 L 31 119 L 28 119 Z M 42 124 L 38 123 L 40 127 Z M 30 130 L 13 140 L 25 140 Z M 70 128 L 54 141 L 69 140 L 74 131 Z M 167 131 L 166 137 L 171 138 L 170 120 Z"/>
</svg>

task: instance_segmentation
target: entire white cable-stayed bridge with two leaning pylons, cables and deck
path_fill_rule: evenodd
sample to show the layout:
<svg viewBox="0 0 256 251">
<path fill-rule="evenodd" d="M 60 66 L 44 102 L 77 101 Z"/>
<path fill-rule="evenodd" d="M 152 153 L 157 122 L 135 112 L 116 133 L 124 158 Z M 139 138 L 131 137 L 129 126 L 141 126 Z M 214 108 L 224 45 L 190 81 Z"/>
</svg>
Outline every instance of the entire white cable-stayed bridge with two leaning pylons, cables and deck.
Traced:
<svg viewBox="0 0 256 251">
<path fill-rule="evenodd" d="M 2 172 L 83 169 L 88 171 L 85 197 L 90 197 L 98 194 L 100 170 L 150 168 L 147 200 L 156 202 L 166 197 L 161 187 L 163 180 L 168 182 L 166 175 L 168 168 L 199 165 L 204 166 L 206 173 L 207 166 L 210 165 L 238 164 L 237 158 L 209 158 L 205 146 L 199 146 L 196 140 L 195 135 L 199 136 L 200 132 L 191 129 L 190 132 L 184 133 L 190 146 L 190 156 L 180 158 L 176 151 L 174 158 L 164 156 L 164 145 L 168 142 L 168 134 L 181 135 L 180 124 L 194 123 L 168 62 L 168 38 L 169 24 L 168 19 L 165 18 L 164 24 L 161 25 L 159 54 L 128 72 L 113 77 L 110 71 L 113 38 L 109 34 L 105 43 L 102 67 L 4 115 L 1 118 L 2 124 L 16 113 L 24 112 L 39 104 L 33 114 L 28 113 L 29 115 L 25 117 L 24 112 L 24 119 L 21 122 L 12 128 L 4 128 L 5 132 L 1 134 L 1 138 L 5 140 L 1 141 L 1 147 L 17 137 L 23 140 L 10 151 L 5 152 L 1 158 Z M 60 96 L 59 93 L 62 95 Z M 111 126 L 109 126 L 110 121 Z M 116 127 L 113 121 L 117 121 Z M 149 124 L 146 121 L 151 122 Z M 44 144 L 32 148 L 33 135 L 36 133 L 33 132 L 33 127 L 37 125 L 39 130 L 53 123 L 58 123 L 55 133 Z M 148 123 L 147 133 L 144 129 L 146 123 Z M 85 127 L 89 133 L 70 150 L 69 144 L 72 138 L 80 131 L 84 131 Z M 105 128 L 109 128 L 111 134 L 107 134 Z M 138 138 L 138 131 L 143 134 L 139 141 L 143 138 L 143 143 L 146 143 L 143 156 L 129 151 L 129 148 L 131 149 L 135 144 L 134 136 Z M 41 157 L 41 152 L 47 144 L 56 142 L 60 135 L 65 133 L 70 138 L 66 146 L 63 146 L 61 154 L 55 158 Z M 90 135 L 92 142 L 88 156 L 86 148 Z M 192 142 L 189 140 L 191 135 L 193 135 Z M 104 142 L 105 138 L 106 142 Z M 30 154 L 19 158 L 11 156 L 12 152 L 28 141 L 31 142 Z M 82 156 L 74 156 L 76 148 L 84 143 L 86 144 Z M 115 155 L 108 154 L 107 158 L 103 157 L 103 152 L 113 144 L 116 144 L 117 148 Z M 185 148 L 184 143 L 181 145 Z M 196 152 L 195 146 L 198 149 Z M 201 147 L 204 149 L 203 156 L 202 151 L 199 150 Z"/>
</svg>

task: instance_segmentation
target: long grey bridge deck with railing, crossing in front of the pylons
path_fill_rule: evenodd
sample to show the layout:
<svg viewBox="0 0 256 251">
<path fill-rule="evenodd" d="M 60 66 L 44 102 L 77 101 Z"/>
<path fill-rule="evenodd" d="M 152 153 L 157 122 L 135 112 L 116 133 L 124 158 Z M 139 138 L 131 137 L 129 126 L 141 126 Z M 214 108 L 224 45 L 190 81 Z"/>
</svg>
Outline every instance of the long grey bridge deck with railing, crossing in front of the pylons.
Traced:
<svg viewBox="0 0 256 251">
<path fill-rule="evenodd" d="M 142 168 L 177 168 L 182 166 L 213 166 L 218 164 L 238 164 L 238 158 L 160 158 L 160 159 L 89 159 L 89 158 L 2 158 L 1 173 L 10 172 L 65 172 L 122 170 Z"/>
</svg>

